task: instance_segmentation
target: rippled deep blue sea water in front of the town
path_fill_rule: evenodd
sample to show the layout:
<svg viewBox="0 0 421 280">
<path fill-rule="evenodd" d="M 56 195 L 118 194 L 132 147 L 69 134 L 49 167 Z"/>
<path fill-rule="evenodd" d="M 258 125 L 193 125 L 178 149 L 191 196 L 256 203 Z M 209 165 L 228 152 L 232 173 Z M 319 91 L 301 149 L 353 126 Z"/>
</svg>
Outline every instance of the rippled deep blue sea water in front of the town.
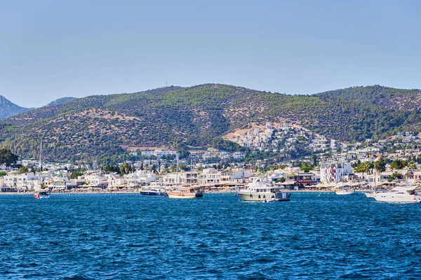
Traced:
<svg viewBox="0 0 421 280">
<path fill-rule="evenodd" d="M 0 196 L 0 279 L 417 279 L 421 204 Z"/>
</svg>

